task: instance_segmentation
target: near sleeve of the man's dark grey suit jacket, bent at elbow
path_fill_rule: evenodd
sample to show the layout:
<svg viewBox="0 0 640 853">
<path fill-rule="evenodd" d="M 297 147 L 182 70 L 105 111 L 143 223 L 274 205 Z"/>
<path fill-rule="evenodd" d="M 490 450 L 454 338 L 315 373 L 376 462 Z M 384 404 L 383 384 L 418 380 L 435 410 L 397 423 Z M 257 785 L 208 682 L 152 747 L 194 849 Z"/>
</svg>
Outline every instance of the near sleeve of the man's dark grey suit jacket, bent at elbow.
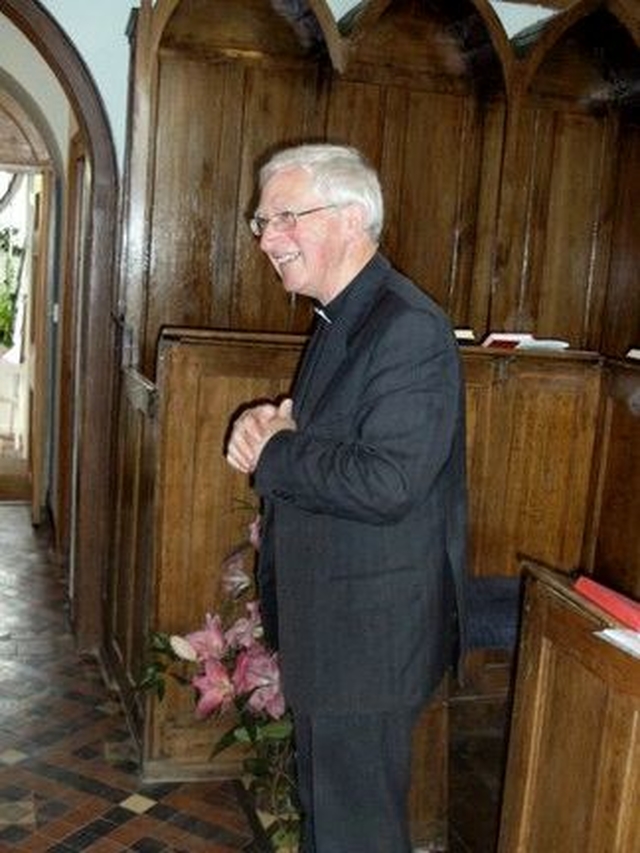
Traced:
<svg viewBox="0 0 640 853">
<path fill-rule="evenodd" d="M 406 307 L 355 345 L 311 423 L 266 445 L 254 487 L 312 513 L 371 524 L 428 495 L 453 446 L 460 360 L 437 314 Z M 335 392 L 334 392 L 335 393 Z"/>
</svg>

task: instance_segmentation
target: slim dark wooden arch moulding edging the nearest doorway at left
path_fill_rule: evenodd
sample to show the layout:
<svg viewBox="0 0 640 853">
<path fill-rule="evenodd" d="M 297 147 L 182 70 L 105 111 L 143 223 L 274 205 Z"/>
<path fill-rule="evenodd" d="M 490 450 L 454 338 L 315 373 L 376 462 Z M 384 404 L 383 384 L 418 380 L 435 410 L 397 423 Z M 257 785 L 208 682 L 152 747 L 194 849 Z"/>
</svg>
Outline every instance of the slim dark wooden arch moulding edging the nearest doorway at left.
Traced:
<svg viewBox="0 0 640 853">
<path fill-rule="evenodd" d="M 82 383 L 74 593 L 79 648 L 102 642 L 102 585 L 111 534 L 113 328 L 118 173 L 111 130 L 99 93 L 67 35 L 36 0 L 0 0 L 6 15 L 33 44 L 65 91 L 86 140 L 92 176 L 89 200 L 87 273 L 80 330 Z M 99 245 L 99 250 L 95 247 Z"/>
</svg>

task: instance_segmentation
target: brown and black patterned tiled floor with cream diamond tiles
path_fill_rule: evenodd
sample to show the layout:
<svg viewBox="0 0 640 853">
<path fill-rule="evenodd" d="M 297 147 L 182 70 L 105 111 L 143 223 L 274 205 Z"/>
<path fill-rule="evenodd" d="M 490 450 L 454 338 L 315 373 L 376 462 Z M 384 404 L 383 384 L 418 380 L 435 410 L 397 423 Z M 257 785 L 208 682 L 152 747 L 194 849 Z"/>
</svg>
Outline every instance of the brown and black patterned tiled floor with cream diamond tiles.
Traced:
<svg viewBox="0 0 640 853">
<path fill-rule="evenodd" d="M 27 504 L 0 503 L 0 853 L 256 853 L 233 783 L 140 783 L 117 696 L 74 651 L 47 545 Z M 451 853 L 493 850 L 500 743 L 454 732 Z"/>
</svg>

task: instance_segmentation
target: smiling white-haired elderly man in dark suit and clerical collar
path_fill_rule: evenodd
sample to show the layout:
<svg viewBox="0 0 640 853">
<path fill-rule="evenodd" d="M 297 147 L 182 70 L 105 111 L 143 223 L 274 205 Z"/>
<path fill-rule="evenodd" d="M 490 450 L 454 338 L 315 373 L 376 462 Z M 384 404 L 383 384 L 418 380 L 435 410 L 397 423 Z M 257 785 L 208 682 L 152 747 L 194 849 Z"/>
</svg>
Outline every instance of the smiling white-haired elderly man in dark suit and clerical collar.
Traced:
<svg viewBox="0 0 640 853">
<path fill-rule="evenodd" d="M 258 583 L 294 715 L 304 853 L 407 853 L 411 735 L 459 653 L 464 404 L 437 305 L 379 253 L 355 150 L 302 145 L 260 173 L 251 228 L 316 326 L 291 398 L 227 447 L 263 502 Z"/>
</svg>

